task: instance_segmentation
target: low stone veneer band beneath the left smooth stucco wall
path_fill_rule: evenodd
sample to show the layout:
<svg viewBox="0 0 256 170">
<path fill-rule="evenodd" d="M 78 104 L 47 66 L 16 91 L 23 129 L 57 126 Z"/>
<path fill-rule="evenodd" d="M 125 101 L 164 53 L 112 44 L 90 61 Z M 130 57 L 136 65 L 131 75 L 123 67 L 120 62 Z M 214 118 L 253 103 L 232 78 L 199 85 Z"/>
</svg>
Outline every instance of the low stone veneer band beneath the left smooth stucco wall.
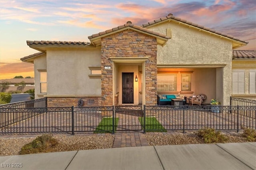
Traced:
<svg viewBox="0 0 256 170">
<path fill-rule="evenodd" d="M 48 97 L 47 107 L 77 107 L 80 99 L 84 101 L 84 107 L 101 106 L 101 97 Z"/>
</svg>

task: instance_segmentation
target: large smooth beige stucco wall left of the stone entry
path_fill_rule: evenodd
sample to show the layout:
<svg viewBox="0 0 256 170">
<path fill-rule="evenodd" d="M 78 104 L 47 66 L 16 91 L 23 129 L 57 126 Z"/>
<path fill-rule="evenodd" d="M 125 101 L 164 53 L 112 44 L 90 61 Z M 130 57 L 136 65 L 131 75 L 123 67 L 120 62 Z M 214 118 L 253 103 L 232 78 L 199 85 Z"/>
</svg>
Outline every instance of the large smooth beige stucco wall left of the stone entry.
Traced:
<svg viewBox="0 0 256 170">
<path fill-rule="evenodd" d="M 48 48 L 47 95 L 100 95 L 100 78 L 89 78 L 89 66 L 100 66 L 100 47 Z"/>
</svg>

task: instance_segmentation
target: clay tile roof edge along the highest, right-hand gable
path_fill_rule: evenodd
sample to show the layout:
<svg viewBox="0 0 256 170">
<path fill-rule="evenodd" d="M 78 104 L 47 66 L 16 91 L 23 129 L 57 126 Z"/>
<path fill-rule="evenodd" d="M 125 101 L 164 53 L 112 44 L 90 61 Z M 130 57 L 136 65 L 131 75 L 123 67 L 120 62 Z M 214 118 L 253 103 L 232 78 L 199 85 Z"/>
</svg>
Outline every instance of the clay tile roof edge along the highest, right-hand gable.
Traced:
<svg viewBox="0 0 256 170">
<path fill-rule="evenodd" d="M 216 34 L 218 34 L 218 35 L 222 35 L 222 36 L 224 36 L 224 37 L 228 37 L 228 38 L 234 39 L 234 40 L 236 40 L 236 41 L 242 41 L 243 43 L 248 43 L 248 41 L 245 41 L 245 40 L 242 40 L 242 39 L 233 37 L 233 36 L 231 36 L 231 35 L 228 35 L 228 34 L 225 34 L 225 33 L 219 32 L 219 31 L 216 31 L 216 30 L 214 30 L 214 29 L 210 29 L 210 28 L 208 28 L 208 27 L 204 27 L 204 26 L 202 26 L 202 25 L 198 25 L 198 24 L 196 24 L 196 23 L 192 23 L 192 22 L 190 22 L 190 21 L 183 20 L 183 19 L 178 18 L 178 17 L 175 17 L 175 16 L 173 16 L 173 15 L 168 15 L 168 16 L 166 16 L 166 17 L 160 18 L 160 20 L 154 20 L 154 21 L 152 21 L 152 22 L 148 22 L 148 23 L 142 24 L 141 27 L 148 27 L 148 26 L 153 25 L 153 24 L 155 24 L 155 23 L 158 23 L 158 22 L 161 22 L 161 21 L 165 21 L 165 20 L 169 20 L 169 19 L 176 20 L 176 21 L 179 21 L 179 22 L 182 22 L 182 23 L 186 23 L 186 24 L 188 24 L 188 25 L 191 25 L 191 26 L 194 26 L 194 27 L 198 27 L 198 28 L 204 29 L 204 30 L 206 30 L 206 31 L 210 31 L 210 32 L 212 32 L 212 33 L 216 33 Z"/>
</svg>

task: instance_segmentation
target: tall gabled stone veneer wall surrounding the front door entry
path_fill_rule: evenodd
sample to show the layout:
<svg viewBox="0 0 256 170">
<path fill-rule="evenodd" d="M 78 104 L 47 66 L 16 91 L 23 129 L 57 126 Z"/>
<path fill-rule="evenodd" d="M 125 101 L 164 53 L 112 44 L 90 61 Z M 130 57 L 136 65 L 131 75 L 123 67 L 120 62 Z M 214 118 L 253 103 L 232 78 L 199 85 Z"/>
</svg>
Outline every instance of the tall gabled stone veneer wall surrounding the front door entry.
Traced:
<svg viewBox="0 0 256 170">
<path fill-rule="evenodd" d="M 157 42 L 156 38 L 130 30 L 103 37 L 101 40 L 102 106 L 113 103 L 113 62 L 109 57 L 148 57 L 146 61 L 146 105 L 157 104 Z M 111 69 L 104 69 L 111 66 Z"/>
</svg>

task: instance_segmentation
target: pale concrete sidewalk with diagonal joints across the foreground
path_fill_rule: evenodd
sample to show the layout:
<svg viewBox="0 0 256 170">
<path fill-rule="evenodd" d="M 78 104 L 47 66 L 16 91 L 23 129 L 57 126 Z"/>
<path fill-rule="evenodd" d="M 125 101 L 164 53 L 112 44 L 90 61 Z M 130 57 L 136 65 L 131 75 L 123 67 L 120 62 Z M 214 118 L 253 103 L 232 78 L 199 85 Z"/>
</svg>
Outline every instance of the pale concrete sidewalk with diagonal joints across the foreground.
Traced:
<svg viewBox="0 0 256 170">
<path fill-rule="evenodd" d="M 0 156 L 0 163 L 1 170 L 256 170 L 256 143 L 124 147 Z"/>
</svg>

